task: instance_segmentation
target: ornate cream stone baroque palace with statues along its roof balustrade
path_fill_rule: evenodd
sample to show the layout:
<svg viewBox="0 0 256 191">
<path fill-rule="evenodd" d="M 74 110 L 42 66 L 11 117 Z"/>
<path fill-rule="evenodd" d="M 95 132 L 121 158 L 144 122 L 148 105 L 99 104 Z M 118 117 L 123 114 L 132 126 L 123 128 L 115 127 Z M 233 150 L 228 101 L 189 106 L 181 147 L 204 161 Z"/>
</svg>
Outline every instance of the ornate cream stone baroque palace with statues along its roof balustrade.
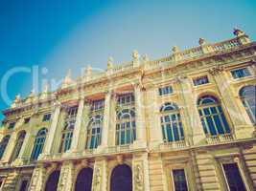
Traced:
<svg viewBox="0 0 256 191">
<path fill-rule="evenodd" d="M 156 60 L 109 58 L 104 72 L 16 96 L 1 190 L 255 190 L 256 42 L 233 33 Z"/>
</svg>

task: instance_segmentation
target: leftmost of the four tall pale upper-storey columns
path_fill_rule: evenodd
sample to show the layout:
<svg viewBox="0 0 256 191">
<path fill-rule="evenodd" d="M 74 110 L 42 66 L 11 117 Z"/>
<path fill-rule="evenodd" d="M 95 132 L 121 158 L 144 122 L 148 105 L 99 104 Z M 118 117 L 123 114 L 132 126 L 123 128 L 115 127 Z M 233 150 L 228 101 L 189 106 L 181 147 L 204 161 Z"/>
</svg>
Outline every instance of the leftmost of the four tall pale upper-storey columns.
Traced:
<svg viewBox="0 0 256 191">
<path fill-rule="evenodd" d="M 43 156 L 51 155 L 52 146 L 54 143 L 54 138 L 55 138 L 57 126 L 58 126 L 58 117 L 60 114 L 60 107 L 61 107 L 60 103 L 55 104 L 55 111 L 52 117 L 50 129 L 48 132 L 48 137 L 46 138 L 46 141 L 45 141 Z"/>
</svg>

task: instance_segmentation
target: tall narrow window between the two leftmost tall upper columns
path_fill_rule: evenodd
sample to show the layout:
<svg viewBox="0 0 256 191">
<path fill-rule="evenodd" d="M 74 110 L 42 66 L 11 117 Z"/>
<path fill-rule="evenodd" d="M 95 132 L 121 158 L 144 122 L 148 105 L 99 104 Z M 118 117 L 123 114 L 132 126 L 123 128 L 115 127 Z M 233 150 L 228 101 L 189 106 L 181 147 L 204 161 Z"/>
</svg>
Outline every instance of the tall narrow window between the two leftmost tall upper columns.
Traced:
<svg viewBox="0 0 256 191">
<path fill-rule="evenodd" d="M 62 129 L 62 136 L 61 136 L 60 145 L 58 149 L 59 153 L 65 153 L 67 150 L 70 149 L 77 114 L 78 114 L 77 106 L 68 108 L 67 115 L 65 117 L 64 127 Z"/>
</svg>

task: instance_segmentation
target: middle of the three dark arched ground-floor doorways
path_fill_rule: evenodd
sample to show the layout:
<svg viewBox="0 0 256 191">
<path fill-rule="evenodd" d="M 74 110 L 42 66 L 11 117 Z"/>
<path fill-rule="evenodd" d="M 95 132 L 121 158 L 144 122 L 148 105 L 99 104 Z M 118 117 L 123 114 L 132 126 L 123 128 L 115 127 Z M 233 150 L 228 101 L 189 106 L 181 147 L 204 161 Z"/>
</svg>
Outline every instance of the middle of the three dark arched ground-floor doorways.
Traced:
<svg viewBox="0 0 256 191">
<path fill-rule="evenodd" d="M 75 191 L 91 191 L 92 174 L 91 168 L 82 168 L 76 180 Z"/>
</svg>

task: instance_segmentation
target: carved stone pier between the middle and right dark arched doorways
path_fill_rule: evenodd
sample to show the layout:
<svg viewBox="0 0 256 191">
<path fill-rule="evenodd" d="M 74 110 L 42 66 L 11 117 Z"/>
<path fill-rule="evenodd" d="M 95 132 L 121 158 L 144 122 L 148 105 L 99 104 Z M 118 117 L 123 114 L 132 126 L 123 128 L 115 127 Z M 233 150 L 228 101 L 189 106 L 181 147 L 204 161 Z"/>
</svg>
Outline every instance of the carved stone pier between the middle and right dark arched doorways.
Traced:
<svg viewBox="0 0 256 191">
<path fill-rule="evenodd" d="M 92 191 L 107 190 L 107 160 L 99 158 L 94 163 Z"/>
</svg>

